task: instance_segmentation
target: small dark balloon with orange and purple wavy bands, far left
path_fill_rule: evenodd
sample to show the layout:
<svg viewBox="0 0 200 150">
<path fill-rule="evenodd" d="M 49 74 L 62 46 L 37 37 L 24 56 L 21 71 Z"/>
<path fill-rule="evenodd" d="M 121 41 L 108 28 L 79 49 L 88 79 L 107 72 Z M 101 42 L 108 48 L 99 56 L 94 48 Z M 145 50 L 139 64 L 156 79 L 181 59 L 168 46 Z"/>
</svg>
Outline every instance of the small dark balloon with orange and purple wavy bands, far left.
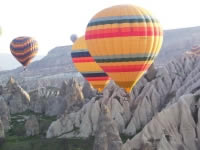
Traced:
<svg viewBox="0 0 200 150">
<path fill-rule="evenodd" d="M 17 37 L 10 43 L 12 55 L 26 68 L 38 52 L 38 43 L 31 37 Z"/>
</svg>

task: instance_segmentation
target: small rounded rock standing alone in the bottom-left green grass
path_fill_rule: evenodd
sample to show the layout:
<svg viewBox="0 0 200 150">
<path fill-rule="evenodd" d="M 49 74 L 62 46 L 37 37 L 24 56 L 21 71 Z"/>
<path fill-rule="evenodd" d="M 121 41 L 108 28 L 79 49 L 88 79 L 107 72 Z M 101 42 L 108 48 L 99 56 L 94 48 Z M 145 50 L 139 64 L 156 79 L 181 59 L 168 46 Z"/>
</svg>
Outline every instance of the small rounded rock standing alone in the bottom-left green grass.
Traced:
<svg viewBox="0 0 200 150">
<path fill-rule="evenodd" d="M 36 116 L 32 115 L 27 119 L 25 129 L 26 136 L 39 135 L 39 123 Z"/>
</svg>

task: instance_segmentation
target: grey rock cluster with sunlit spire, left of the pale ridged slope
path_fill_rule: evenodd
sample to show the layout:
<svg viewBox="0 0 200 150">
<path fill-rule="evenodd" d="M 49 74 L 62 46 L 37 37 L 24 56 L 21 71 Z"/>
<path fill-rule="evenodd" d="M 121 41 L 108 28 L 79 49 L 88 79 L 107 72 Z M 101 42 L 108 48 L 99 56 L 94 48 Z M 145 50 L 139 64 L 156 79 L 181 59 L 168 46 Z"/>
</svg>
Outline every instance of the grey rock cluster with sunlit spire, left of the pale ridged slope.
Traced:
<svg viewBox="0 0 200 150">
<path fill-rule="evenodd" d="M 74 79 L 64 81 L 61 88 L 45 87 L 29 92 L 30 110 L 47 116 L 79 110 L 85 103 L 81 86 Z"/>
</svg>

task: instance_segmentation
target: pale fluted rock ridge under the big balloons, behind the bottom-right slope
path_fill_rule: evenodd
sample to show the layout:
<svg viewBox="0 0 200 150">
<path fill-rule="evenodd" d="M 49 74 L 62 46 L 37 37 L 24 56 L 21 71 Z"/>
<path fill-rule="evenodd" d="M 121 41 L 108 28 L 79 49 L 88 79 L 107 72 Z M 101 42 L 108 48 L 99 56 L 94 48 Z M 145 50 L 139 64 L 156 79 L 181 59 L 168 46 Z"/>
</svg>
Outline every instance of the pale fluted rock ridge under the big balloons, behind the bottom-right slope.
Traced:
<svg viewBox="0 0 200 150">
<path fill-rule="evenodd" d="M 146 75 L 142 77 L 130 95 L 111 82 L 103 95 L 93 97 L 78 112 L 68 113 L 53 122 L 47 137 L 94 135 L 100 103 L 109 107 L 120 133 L 129 136 L 138 134 L 154 116 L 176 103 L 182 95 L 200 92 L 198 59 L 198 56 L 184 54 L 165 67 L 153 68 L 154 77 L 150 80 Z"/>
</svg>

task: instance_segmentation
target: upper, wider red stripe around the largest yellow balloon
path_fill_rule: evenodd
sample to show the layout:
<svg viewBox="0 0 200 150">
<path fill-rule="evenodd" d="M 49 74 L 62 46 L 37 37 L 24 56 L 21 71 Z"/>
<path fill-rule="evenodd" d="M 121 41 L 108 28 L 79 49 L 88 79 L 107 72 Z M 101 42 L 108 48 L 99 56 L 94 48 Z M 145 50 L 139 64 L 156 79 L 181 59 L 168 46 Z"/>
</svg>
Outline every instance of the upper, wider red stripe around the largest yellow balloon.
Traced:
<svg viewBox="0 0 200 150">
<path fill-rule="evenodd" d="M 85 38 L 98 39 L 110 37 L 124 36 L 161 36 L 160 28 L 158 27 L 124 27 L 124 28 L 108 28 L 98 30 L 88 30 Z"/>
</svg>

